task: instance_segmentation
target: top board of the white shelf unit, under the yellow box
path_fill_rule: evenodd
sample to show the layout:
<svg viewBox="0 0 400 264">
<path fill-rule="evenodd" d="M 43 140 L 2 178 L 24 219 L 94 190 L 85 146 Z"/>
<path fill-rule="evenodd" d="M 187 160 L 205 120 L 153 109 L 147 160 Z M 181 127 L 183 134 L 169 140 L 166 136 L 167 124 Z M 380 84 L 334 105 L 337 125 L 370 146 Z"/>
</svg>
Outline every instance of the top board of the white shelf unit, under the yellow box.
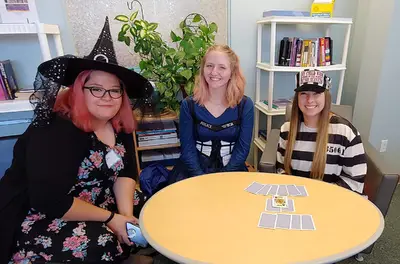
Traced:
<svg viewBox="0 0 400 264">
<path fill-rule="evenodd" d="M 323 18 L 323 17 L 296 17 L 296 16 L 271 16 L 257 21 L 257 24 L 352 24 L 351 18 Z"/>
</svg>

